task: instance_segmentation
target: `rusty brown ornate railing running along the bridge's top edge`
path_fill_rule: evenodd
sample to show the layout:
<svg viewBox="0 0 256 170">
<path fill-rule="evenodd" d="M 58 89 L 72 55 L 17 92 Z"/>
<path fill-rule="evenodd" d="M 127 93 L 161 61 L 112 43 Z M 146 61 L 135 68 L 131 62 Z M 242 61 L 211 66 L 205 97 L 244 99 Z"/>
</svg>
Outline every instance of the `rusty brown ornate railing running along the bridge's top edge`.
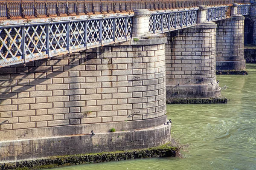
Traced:
<svg viewBox="0 0 256 170">
<path fill-rule="evenodd" d="M 247 4 L 250 0 L 0 0 L 0 18 L 103 14 L 134 9 L 160 10 L 232 3 Z"/>
</svg>

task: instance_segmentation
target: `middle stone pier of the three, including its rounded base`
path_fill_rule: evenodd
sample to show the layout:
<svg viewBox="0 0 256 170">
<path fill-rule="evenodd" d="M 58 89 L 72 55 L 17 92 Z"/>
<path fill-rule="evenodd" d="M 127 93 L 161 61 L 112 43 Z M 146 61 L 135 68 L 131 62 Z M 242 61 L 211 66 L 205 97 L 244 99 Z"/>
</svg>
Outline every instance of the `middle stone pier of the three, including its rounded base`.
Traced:
<svg viewBox="0 0 256 170">
<path fill-rule="evenodd" d="M 202 23 L 167 35 L 167 100 L 221 95 L 215 75 L 215 34 L 215 23 Z"/>
</svg>

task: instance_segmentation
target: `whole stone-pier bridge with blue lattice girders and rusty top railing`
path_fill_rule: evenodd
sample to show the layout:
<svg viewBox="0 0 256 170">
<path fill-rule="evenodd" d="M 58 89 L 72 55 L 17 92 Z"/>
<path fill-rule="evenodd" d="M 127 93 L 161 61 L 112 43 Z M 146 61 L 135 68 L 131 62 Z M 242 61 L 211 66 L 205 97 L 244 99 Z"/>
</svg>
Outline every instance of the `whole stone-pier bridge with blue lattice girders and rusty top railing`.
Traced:
<svg viewBox="0 0 256 170">
<path fill-rule="evenodd" d="M 0 161 L 166 143 L 166 97 L 221 100 L 216 69 L 245 69 L 249 8 L 247 0 L 0 1 Z"/>
</svg>

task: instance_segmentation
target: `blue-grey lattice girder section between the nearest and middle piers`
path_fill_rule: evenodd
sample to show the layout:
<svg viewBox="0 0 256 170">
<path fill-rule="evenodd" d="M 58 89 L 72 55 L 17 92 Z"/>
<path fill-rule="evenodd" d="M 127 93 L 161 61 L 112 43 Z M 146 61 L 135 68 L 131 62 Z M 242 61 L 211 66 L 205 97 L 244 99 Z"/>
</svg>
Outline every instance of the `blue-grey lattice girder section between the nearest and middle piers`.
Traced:
<svg viewBox="0 0 256 170">
<path fill-rule="evenodd" d="M 197 23 L 198 8 L 151 14 L 149 32 L 154 34 L 188 28 Z"/>
</svg>

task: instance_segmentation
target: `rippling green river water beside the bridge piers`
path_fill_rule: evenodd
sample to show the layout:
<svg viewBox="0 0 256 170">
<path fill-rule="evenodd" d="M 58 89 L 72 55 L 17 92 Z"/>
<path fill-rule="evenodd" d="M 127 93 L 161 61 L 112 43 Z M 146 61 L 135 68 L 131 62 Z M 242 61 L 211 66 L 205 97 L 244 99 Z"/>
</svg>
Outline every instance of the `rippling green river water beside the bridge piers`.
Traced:
<svg viewBox="0 0 256 170">
<path fill-rule="evenodd" d="M 228 104 L 168 105 L 172 136 L 185 158 L 135 159 L 55 170 L 256 170 L 256 65 L 249 75 L 218 75 Z"/>
</svg>

